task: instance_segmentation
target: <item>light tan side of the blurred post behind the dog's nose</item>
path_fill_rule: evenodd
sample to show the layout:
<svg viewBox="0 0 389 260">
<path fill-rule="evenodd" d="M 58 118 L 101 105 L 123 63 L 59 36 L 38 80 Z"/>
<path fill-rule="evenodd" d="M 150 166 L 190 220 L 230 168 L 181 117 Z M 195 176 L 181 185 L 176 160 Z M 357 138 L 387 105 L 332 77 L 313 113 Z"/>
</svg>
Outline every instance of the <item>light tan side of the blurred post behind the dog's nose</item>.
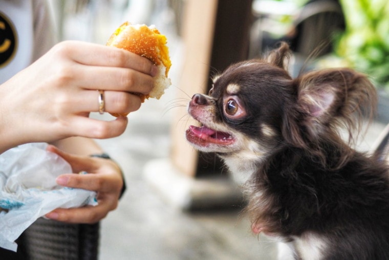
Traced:
<svg viewBox="0 0 389 260">
<path fill-rule="evenodd" d="M 185 2 L 182 37 L 184 43 L 183 70 L 178 91 L 179 97 L 189 102 L 195 93 L 208 88 L 208 75 L 213 43 L 218 0 L 187 0 Z M 185 129 L 196 124 L 188 119 L 186 108 L 177 109 L 171 136 L 171 160 L 174 167 L 187 176 L 195 176 L 198 152 L 186 141 Z"/>
</svg>

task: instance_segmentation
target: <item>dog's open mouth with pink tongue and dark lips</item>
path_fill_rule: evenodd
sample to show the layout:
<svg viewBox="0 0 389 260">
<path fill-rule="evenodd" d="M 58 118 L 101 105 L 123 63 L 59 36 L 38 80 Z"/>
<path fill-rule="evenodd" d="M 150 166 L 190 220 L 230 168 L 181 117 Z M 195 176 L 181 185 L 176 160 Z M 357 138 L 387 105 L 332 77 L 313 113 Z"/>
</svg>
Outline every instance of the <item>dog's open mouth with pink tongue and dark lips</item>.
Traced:
<svg viewBox="0 0 389 260">
<path fill-rule="evenodd" d="M 189 142 L 199 146 L 209 144 L 230 145 L 235 142 L 235 138 L 231 134 L 215 131 L 206 126 L 189 126 L 186 130 L 186 138 Z"/>
</svg>

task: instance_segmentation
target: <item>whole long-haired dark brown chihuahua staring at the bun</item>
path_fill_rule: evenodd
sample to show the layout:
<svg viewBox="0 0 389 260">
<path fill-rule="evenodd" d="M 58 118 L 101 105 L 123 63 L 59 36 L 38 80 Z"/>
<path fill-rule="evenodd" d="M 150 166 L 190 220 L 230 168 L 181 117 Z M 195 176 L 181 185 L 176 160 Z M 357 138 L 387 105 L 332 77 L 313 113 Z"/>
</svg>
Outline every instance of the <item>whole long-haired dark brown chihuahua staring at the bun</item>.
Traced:
<svg viewBox="0 0 389 260">
<path fill-rule="evenodd" d="M 389 259 L 389 171 L 352 148 L 375 88 L 347 68 L 292 78 L 288 55 L 282 43 L 215 76 L 189 102 L 201 126 L 186 138 L 248 177 L 253 232 L 282 238 L 295 259 Z"/>
</svg>

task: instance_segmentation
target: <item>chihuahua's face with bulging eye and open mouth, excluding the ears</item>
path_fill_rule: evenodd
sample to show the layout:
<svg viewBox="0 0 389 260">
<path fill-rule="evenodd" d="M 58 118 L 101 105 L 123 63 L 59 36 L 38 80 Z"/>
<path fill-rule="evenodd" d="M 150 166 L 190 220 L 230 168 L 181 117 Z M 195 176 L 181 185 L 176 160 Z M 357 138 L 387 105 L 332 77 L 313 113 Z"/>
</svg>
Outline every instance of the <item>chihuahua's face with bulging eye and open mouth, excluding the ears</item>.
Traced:
<svg viewBox="0 0 389 260">
<path fill-rule="evenodd" d="M 193 95 L 188 112 L 202 126 L 189 127 L 188 141 L 206 152 L 263 155 L 280 141 L 290 82 L 284 69 L 265 61 L 230 66 L 213 78 L 209 95 Z"/>
</svg>

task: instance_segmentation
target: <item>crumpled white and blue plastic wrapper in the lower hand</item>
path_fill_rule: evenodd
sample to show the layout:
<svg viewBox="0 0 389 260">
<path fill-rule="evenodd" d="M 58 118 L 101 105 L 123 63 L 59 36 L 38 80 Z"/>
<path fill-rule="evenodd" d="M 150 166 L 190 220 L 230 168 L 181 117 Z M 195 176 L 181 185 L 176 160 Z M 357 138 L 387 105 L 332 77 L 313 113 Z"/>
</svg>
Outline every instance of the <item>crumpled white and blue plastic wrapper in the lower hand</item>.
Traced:
<svg viewBox="0 0 389 260">
<path fill-rule="evenodd" d="M 97 205 L 96 192 L 56 184 L 72 168 L 46 147 L 25 144 L 0 154 L 0 247 L 16 251 L 20 234 L 56 208 Z"/>
</svg>

